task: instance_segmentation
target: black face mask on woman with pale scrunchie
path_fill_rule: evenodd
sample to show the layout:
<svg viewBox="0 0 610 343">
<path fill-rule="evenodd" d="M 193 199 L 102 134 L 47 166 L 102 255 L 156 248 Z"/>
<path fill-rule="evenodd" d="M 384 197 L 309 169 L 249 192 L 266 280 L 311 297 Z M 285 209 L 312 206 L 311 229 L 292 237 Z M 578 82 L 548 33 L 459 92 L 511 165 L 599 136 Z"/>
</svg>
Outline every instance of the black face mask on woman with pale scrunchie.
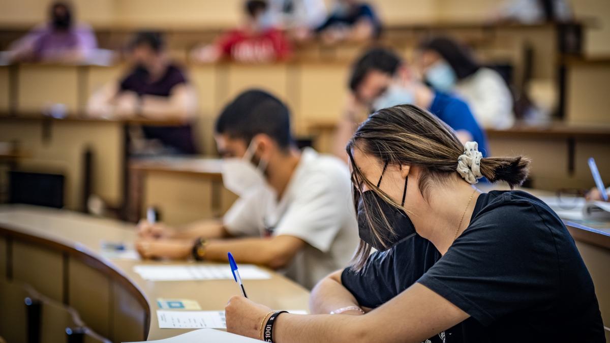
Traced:
<svg viewBox="0 0 610 343">
<path fill-rule="evenodd" d="M 377 187 L 379 187 L 379 184 L 381 184 L 381 178 L 383 177 L 383 173 L 386 171 L 386 167 L 387 163 L 381 172 L 381 176 L 379 176 Z M 407 193 L 408 179 L 408 177 L 404 179 L 403 201 L 400 206 L 404 205 L 404 197 Z M 365 203 L 374 205 L 370 206 L 368 209 L 368 211 L 370 211 L 370 217 L 380 219 L 380 223 L 383 223 L 383 220 L 381 219 L 385 217 L 390 228 L 393 229 L 394 234 L 390 233 L 388 229 L 387 236 L 381 237 L 381 239 L 378 239 L 375 235 L 373 235 L 373 230 L 368 225 L 367 215 L 365 214 Z M 379 207 L 376 206 L 376 204 L 379 204 Z M 358 201 L 358 235 L 360 236 L 360 239 L 364 240 L 364 242 L 376 250 L 386 251 L 403 240 L 415 236 L 415 234 L 415 226 L 413 226 L 411 219 L 402 209 L 397 209 L 394 206 L 386 203 L 386 201 L 379 197 L 379 195 L 373 190 L 367 190 L 366 192 L 362 193 L 362 196 Z"/>
</svg>

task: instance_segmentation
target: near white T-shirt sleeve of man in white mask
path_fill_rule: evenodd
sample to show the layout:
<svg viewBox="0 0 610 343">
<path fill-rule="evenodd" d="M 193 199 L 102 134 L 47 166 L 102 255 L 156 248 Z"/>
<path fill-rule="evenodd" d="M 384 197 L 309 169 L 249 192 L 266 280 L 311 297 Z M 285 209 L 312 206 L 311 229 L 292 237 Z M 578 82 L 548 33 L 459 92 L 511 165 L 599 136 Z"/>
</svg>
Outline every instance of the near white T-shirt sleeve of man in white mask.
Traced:
<svg viewBox="0 0 610 343">
<path fill-rule="evenodd" d="M 290 204 L 274 231 L 303 239 L 326 253 L 345 223 L 350 210 L 350 179 L 337 175 L 315 173 L 298 187 L 298 197 Z"/>
</svg>

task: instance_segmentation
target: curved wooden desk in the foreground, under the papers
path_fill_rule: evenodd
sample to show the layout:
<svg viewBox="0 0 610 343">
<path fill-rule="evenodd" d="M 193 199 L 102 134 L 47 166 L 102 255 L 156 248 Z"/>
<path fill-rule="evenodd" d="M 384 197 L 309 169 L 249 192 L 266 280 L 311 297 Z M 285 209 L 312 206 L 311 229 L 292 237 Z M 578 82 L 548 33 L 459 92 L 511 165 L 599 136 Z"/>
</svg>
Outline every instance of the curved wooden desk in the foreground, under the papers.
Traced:
<svg viewBox="0 0 610 343">
<path fill-rule="evenodd" d="M 146 281 L 133 271 L 134 265 L 161 262 L 101 256 L 102 240 L 134 239 L 134 227 L 123 222 L 34 206 L 0 206 L 0 277 L 28 283 L 72 306 L 88 327 L 115 342 L 188 331 L 159 329 L 159 297 L 190 298 L 204 310 L 221 310 L 229 297 L 239 294 L 233 280 Z M 271 308 L 307 309 L 306 289 L 272 275 L 271 280 L 247 281 L 249 297 Z"/>
</svg>

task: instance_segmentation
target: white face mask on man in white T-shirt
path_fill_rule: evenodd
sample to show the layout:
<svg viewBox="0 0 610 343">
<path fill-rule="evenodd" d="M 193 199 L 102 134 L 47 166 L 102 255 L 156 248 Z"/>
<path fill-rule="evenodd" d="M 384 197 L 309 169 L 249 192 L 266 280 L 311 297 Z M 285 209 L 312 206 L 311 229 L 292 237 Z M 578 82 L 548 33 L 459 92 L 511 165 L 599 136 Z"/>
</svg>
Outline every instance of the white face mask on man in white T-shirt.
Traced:
<svg viewBox="0 0 610 343">
<path fill-rule="evenodd" d="M 223 161 L 224 187 L 240 197 L 264 187 L 267 182 L 264 172 L 268 162 L 261 159 L 259 165 L 254 166 L 251 162 L 254 154 L 252 146 L 251 142 L 243 157 L 229 157 Z"/>
</svg>

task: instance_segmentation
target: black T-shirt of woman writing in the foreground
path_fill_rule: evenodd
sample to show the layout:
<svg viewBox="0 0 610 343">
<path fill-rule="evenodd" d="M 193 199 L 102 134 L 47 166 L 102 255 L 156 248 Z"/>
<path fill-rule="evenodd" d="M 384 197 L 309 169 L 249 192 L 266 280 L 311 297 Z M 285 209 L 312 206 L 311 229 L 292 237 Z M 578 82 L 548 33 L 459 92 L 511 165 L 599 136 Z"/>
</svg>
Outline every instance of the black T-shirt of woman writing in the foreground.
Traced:
<svg viewBox="0 0 610 343">
<path fill-rule="evenodd" d="M 593 282 L 572 236 L 536 197 L 481 194 L 468 228 L 428 269 L 431 253 L 419 240 L 411 251 L 393 248 L 390 259 L 383 258 L 390 252 L 373 254 L 364 273 L 344 271 L 343 284 L 361 305 L 378 306 L 417 281 L 471 316 L 431 342 L 605 342 Z"/>
</svg>

